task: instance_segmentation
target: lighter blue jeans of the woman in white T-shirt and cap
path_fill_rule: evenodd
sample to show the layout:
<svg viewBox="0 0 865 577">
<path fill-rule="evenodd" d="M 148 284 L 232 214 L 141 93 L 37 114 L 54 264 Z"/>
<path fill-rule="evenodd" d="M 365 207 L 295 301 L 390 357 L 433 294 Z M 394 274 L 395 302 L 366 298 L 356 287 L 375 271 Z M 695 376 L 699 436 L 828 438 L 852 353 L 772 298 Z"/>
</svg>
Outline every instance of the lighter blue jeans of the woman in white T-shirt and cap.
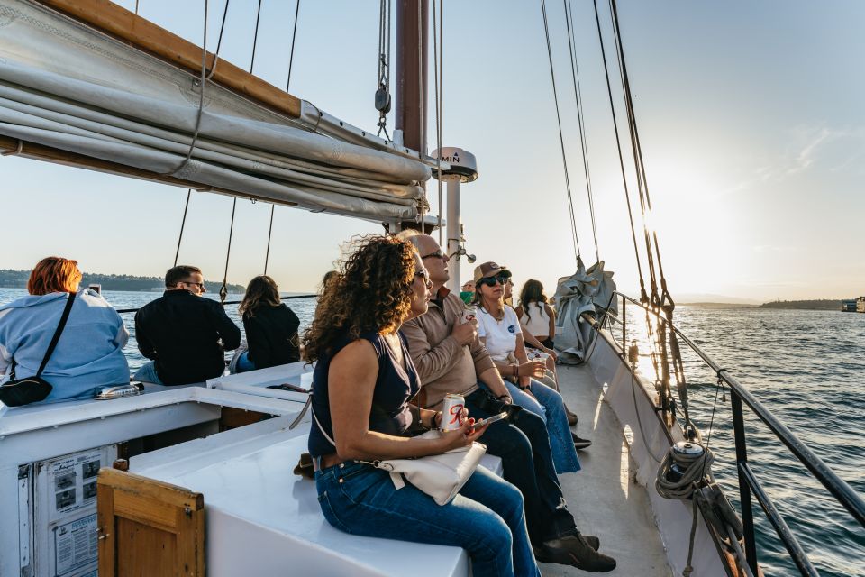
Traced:
<svg viewBox="0 0 865 577">
<path fill-rule="evenodd" d="M 579 465 L 577 449 L 574 448 L 574 439 L 570 435 L 568 415 L 565 414 L 565 402 L 561 399 L 561 395 L 534 379 L 530 386 L 534 398 L 526 395 L 509 380 L 505 380 L 505 387 L 514 398 L 514 405 L 532 411 L 546 423 L 547 430 L 550 432 L 550 448 L 553 461 L 556 463 L 556 472 L 562 474 L 578 472 L 582 469 Z"/>
</svg>

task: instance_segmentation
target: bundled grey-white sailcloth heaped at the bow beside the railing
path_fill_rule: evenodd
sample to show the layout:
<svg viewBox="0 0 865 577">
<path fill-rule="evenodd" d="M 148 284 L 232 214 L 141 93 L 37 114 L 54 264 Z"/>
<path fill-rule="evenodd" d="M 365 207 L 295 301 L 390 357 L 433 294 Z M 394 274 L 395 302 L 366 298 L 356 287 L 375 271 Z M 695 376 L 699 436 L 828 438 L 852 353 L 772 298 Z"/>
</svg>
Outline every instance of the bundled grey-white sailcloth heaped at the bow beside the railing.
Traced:
<svg viewBox="0 0 865 577">
<path fill-rule="evenodd" d="M 577 272 L 559 279 L 554 341 L 559 362 L 579 364 L 586 361 L 587 349 L 595 333 L 581 316 L 583 313 L 595 316 L 602 309 L 607 309 L 615 316 L 618 303 L 614 294 L 613 273 L 604 271 L 604 261 L 597 261 L 586 270 L 582 259 L 578 257 Z"/>
</svg>

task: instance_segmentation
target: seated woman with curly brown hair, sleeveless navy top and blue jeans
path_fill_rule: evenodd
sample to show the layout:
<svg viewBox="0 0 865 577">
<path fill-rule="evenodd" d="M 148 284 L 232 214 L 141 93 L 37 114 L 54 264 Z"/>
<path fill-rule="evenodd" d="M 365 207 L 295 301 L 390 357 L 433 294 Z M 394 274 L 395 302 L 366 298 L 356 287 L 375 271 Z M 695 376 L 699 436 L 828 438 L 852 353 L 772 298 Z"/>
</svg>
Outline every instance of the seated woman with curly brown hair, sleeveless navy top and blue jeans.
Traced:
<svg viewBox="0 0 865 577">
<path fill-rule="evenodd" d="M 441 438 L 412 437 L 442 417 L 409 404 L 421 383 L 399 328 L 426 312 L 431 286 L 412 244 L 362 239 L 333 282 L 304 336 L 306 360 L 317 362 L 309 452 L 324 517 L 353 535 L 460 546 L 475 575 L 540 575 L 523 497 L 510 483 L 478 467 L 439 506 L 411 484 L 396 490 L 388 472 L 359 462 L 444 453 L 484 432 L 465 418 Z"/>
</svg>

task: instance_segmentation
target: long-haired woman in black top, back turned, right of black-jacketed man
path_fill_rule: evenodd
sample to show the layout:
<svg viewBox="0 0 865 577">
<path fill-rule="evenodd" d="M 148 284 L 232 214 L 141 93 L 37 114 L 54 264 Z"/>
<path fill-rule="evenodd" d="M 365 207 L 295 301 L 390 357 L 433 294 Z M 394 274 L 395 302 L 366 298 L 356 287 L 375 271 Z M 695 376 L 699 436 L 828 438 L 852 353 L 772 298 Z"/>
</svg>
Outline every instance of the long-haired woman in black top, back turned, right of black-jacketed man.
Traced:
<svg viewBox="0 0 865 577">
<path fill-rule="evenodd" d="M 237 312 L 243 319 L 249 347 L 238 353 L 237 372 L 300 361 L 297 342 L 300 319 L 280 302 L 279 287 L 274 279 L 260 275 L 250 280 Z"/>
</svg>

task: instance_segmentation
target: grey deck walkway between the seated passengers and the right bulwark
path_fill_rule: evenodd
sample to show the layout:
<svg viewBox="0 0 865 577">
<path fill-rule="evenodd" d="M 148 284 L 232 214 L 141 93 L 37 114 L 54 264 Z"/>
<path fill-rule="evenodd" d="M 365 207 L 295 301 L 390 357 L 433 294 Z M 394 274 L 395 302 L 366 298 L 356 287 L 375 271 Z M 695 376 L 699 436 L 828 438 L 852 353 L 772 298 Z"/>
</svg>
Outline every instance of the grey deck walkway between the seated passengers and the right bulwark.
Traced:
<svg viewBox="0 0 865 577">
<path fill-rule="evenodd" d="M 579 452 L 583 470 L 560 476 L 578 527 L 600 537 L 601 552 L 615 558 L 616 569 L 607 574 L 670 577 L 647 490 L 633 481 L 628 444 L 613 410 L 603 402 L 601 384 L 586 365 L 560 365 L 558 371 L 561 394 L 579 416 L 575 430 L 593 441 Z M 554 564 L 542 564 L 542 573 L 582 574 Z"/>
</svg>

